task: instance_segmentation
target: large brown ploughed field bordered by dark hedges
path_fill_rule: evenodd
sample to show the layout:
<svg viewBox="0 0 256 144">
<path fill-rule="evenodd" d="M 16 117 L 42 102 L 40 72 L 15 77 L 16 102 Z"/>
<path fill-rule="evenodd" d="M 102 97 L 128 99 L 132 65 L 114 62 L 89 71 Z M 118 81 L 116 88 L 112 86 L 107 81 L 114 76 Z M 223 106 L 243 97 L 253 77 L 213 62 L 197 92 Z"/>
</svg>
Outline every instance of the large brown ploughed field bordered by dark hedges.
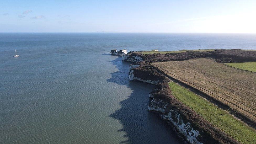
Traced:
<svg viewBox="0 0 256 144">
<path fill-rule="evenodd" d="M 238 70 L 207 58 L 151 64 L 250 120 L 256 120 L 256 73 Z"/>
</svg>

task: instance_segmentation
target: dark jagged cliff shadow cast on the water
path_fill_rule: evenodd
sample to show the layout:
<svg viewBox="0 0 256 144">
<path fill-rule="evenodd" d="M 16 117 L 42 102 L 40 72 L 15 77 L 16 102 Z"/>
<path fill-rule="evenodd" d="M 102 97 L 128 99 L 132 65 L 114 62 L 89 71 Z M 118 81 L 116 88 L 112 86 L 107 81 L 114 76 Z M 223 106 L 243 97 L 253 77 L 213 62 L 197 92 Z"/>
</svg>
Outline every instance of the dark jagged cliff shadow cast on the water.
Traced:
<svg viewBox="0 0 256 144">
<path fill-rule="evenodd" d="M 175 132 L 167 122 L 160 119 L 159 114 L 149 112 L 148 93 L 154 88 L 153 85 L 143 82 L 129 81 L 128 67 L 130 62 L 121 61 L 121 56 L 109 61 L 118 68 L 117 72 L 111 73 L 108 82 L 113 82 L 131 89 L 129 97 L 122 100 L 121 108 L 116 110 L 110 117 L 119 120 L 127 137 L 120 143 L 184 143 L 184 140 Z M 116 89 L 118 91 L 118 89 Z M 120 95 L 127 95 L 122 93 Z"/>
</svg>

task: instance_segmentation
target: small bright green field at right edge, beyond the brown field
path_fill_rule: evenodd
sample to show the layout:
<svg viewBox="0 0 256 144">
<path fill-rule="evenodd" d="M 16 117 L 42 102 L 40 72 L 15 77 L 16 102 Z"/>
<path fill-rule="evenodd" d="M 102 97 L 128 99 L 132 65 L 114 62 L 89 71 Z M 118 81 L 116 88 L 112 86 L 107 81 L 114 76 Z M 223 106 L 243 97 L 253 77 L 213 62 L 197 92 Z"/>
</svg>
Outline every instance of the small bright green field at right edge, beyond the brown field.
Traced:
<svg viewBox="0 0 256 144">
<path fill-rule="evenodd" d="M 226 65 L 239 68 L 242 70 L 247 70 L 251 72 L 256 72 L 256 62 L 240 62 L 240 63 L 225 63 Z"/>
</svg>

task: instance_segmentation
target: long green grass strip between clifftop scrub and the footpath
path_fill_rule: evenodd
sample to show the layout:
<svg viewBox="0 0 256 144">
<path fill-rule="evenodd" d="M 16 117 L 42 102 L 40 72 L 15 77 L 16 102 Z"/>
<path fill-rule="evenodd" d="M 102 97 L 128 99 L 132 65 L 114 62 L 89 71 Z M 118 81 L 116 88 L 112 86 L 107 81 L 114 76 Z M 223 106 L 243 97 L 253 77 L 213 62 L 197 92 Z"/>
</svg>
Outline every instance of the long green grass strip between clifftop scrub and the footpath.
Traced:
<svg viewBox="0 0 256 144">
<path fill-rule="evenodd" d="M 256 131 L 199 95 L 170 82 L 173 95 L 196 113 L 241 143 L 256 143 Z"/>
</svg>

